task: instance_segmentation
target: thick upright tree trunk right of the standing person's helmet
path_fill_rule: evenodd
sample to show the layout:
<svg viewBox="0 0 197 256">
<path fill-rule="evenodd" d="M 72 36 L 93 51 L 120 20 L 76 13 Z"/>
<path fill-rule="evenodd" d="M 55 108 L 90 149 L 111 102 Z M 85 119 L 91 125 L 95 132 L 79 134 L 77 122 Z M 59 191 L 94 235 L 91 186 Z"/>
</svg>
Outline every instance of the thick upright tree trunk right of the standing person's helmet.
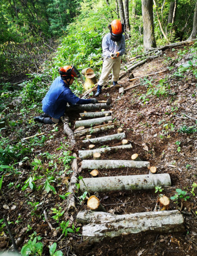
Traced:
<svg viewBox="0 0 197 256">
<path fill-rule="evenodd" d="M 144 49 L 156 47 L 153 23 L 153 0 L 141 0 L 143 27 L 144 27 Z"/>
</svg>

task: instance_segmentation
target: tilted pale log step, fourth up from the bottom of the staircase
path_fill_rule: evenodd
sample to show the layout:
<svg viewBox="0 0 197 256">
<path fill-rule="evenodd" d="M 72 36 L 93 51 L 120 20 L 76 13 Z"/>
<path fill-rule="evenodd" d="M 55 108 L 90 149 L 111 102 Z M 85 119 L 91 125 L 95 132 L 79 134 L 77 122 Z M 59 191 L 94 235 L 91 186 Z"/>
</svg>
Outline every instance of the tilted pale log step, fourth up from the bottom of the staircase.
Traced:
<svg viewBox="0 0 197 256">
<path fill-rule="evenodd" d="M 105 153 L 105 152 L 109 152 L 111 150 L 124 150 L 124 149 L 131 149 L 132 145 L 128 144 L 128 145 L 120 145 L 120 146 L 115 146 L 115 147 L 107 147 L 107 148 L 99 148 L 99 149 L 93 149 L 93 150 L 79 150 L 79 157 L 81 159 L 86 159 L 90 156 L 93 156 L 93 154 L 95 152 L 99 152 L 100 154 Z"/>
</svg>

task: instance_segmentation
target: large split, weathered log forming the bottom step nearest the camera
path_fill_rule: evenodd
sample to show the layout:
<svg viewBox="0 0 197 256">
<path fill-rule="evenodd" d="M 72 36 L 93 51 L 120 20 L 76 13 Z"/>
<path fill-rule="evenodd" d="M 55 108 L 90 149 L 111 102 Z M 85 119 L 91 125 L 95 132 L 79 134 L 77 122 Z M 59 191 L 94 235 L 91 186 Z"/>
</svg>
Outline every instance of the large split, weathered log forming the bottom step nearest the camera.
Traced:
<svg viewBox="0 0 197 256">
<path fill-rule="evenodd" d="M 87 220 L 88 218 L 88 220 Z M 79 212 L 77 222 L 90 222 L 83 226 L 84 240 L 99 242 L 104 238 L 128 234 L 184 232 L 184 218 L 177 211 L 143 212 L 113 215 L 102 212 Z M 97 223 L 99 222 L 99 223 Z"/>
</svg>

